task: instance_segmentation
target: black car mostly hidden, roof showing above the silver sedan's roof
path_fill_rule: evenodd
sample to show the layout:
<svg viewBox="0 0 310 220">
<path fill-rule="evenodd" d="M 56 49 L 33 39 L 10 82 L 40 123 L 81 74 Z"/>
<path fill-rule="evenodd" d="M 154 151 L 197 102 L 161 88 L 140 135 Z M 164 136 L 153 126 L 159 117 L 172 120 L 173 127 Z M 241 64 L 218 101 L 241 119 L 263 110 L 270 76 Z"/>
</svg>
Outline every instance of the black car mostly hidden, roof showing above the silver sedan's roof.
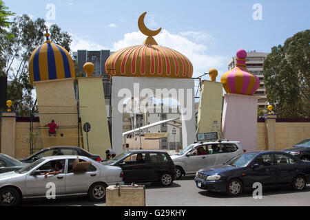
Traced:
<svg viewBox="0 0 310 220">
<path fill-rule="evenodd" d="M 38 153 L 27 158 L 19 159 L 19 161 L 23 163 L 32 163 L 41 157 L 50 157 L 54 155 L 80 155 L 94 159 L 96 162 L 101 162 L 101 157 L 99 155 L 91 154 L 83 148 L 76 146 L 52 146 L 49 148 L 43 148 Z"/>
</svg>

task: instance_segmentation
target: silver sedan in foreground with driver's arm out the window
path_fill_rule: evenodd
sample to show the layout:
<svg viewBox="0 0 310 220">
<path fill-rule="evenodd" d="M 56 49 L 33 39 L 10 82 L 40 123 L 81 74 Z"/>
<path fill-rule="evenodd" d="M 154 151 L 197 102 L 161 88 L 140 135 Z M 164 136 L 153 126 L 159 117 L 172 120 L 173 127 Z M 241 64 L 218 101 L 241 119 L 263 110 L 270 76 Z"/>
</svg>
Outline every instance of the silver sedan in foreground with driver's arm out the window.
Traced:
<svg viewBox="0 0 310 220">
<path fill-rule="evenodd" d="M 79 156 L 79 162 L 92 162 L 84 171 L 73 171 L 76 156 L 64 155 L 43 157 L 15 170 L 0 174 L 0 206 L 15 206 L 20 199 L 51 198 L 70 195 L 88 195 L 92 201 L 105 199 L 109 185 L 123 183 L 122 169 L 104 166 L 88 157 Z M 61 173 L 47 175 L 51 164 L 62 166 Z"/>
</svg>

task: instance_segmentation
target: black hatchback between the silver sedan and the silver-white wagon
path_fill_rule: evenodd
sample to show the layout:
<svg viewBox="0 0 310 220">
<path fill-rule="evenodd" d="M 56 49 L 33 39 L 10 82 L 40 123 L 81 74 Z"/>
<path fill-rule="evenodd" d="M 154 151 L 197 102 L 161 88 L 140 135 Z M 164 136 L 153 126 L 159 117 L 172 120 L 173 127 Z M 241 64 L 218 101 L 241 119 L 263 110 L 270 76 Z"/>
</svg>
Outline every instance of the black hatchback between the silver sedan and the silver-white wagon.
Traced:
<svg viewBox="0 0 310 220">
<path fill-rule="evenodd" d="M 176 176 L 174 162 L 165 151 L 125 151 L 103 164 L 121 167 L 127 184 L 159 182 L 170 186 Z"/>
</svg>

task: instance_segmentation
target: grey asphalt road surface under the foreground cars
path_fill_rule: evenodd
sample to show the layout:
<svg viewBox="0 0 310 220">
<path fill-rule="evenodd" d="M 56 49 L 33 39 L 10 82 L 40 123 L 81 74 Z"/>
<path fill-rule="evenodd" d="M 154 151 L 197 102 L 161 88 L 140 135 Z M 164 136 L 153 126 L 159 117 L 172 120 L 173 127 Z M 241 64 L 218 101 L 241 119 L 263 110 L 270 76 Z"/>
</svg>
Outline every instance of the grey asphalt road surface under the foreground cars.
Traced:
<svg viewBox="0 0 310 220">
<path fill-rule="evenodd" d="M 194 176 L 185 176 L 174 181 L 170 187 L 146 186 L 147 206 L 310 206 L 310 184 L 296 192 L 291 188 L 263 190 L 262 199 L 254 199 L 252 192 L 240 197 L 229 197 L 225 193 L 206 192 L 195 186 Z M 105 206 L 85 197 L 61 199 L 31 199 L 21 201 L 20 206 Z"/>
</svg>

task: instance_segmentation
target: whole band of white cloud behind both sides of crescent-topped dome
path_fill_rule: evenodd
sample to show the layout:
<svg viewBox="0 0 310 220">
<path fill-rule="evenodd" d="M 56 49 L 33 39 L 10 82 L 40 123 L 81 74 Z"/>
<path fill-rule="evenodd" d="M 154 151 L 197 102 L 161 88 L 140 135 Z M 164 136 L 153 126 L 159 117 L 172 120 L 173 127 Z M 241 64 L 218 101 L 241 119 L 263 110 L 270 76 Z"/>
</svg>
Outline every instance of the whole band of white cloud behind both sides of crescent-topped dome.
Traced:
<svg viewBox="0 0 310 220">
<path fill-rule="evenodd" d="M 91 36 L 76 36 L 72 35 L 72 43 L 70 48 L 72 51 L 77 50 L 111 50 L 117 51 L 124 47 L 132 45 L 141 45 L 147 36 L 141 32 L 130 32 L 123 36 L 123 39 L 113 43 L 113 48 L 107 48 L 99 43 L 93 43 Z M 228 57 L 212 55 L 207 50 L 207 45 L 203 43 L 195 43 L 185 37 L 187 34 L 170 34 L 167 30 L 163 30 L 160 34 L 154 37 L 158 45 L 172 48 L 183 55 L 187 56 L 194 67 L 194 77 L 206 73 L 211 68 L 218 70 L 217 81 L 220 81 L 220 76 L 227 71 Z M 209 79 L 209 76 L 205 76 Z"/>
</svg>

